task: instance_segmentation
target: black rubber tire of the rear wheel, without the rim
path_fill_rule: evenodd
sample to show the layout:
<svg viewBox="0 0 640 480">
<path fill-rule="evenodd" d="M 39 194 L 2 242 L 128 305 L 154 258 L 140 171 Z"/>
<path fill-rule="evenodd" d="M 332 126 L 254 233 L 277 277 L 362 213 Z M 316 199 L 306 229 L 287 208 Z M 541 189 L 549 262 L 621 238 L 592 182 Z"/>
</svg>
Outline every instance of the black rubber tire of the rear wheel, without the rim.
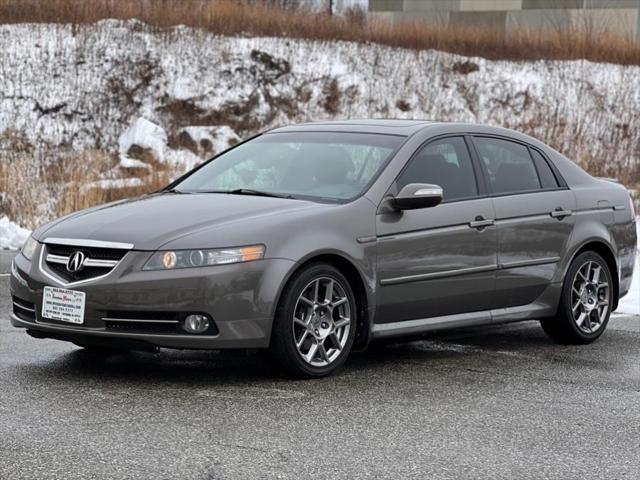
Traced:
<svg viewBox="0 0 640 480">
<path fill-rule="evenodd" d="M 578 271 L 585 268 L 585 266 L 591 262 L 594 265 L 597 265 L 601 268 L 600 271 L 600 279 L 605 280 L 608 284 L 608 306 L 606 308 L 606 313 L 603 315 L 603 319 L 600 321 L 599 327 L 597 330 L 589 333 L 580 328 L 577 324 L 576 317 L 579 316 L 582 312 L 582 306 L 579 306 L 579 309 L 574 314 L 574 306 L 577 304 L 577 299 L 572 302 L 573 299 L 576 298 L 578 293 L 573 290 L 574 282 L 579 282 L 580 280 L 576 277 L 578 275 Z M 604 278 L 603 278 L 604 277 Z M 584 277 L 581 277 L 584 278 Z M 596 296 L 599 292 L 596 292 Z M 560 304 L 558 306 L 558 311 L 554 317 L 546 318 L 541 320 L 542 329 L 544 332 L 555 342 L 565 345 L 584 345 L 597 340 L 607 328 L 607 324 L 609 323 L 609 317 L 611 315 L 611 305 L 613 303 L 613 295 L 614 285 L 613 279 L 611 276 L 611 271 L 607 265 L 607 262 L 595 252 L 583 252 L 578 255 L 571 265 L 569 266 L 569 270 L 565 275 L 564 282 L 562 285 L 562 293 L 560 297 Z M 597 299 L 596 299 L 597 301 Z M 572 305 L 573 303 L 573 305 Z M 596 312 L 597 314 L 597 312 Z M 575 315 L 575 316 L 574 316 Z M 587 314 L 587 315 L 590 315 Z M 591 317 L 587 317 L 589 319 L 589 324 Z M 586 327 L 585 327 L 586 328 Z"/>
</svg>

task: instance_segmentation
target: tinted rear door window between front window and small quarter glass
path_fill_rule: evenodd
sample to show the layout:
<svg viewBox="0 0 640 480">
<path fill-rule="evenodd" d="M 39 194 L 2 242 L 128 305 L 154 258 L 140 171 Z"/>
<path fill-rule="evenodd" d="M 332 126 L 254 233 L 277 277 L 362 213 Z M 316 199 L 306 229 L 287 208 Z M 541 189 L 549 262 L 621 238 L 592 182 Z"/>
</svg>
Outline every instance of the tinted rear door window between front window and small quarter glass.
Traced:
<svg viewBox="0 0 640 480">
<path fill-rule="evenodd" d="M 540 189 L 540 179 L 527 147 L 497 138 L 476 137 L 474 141 L 494 193 Z"/>
</svg>

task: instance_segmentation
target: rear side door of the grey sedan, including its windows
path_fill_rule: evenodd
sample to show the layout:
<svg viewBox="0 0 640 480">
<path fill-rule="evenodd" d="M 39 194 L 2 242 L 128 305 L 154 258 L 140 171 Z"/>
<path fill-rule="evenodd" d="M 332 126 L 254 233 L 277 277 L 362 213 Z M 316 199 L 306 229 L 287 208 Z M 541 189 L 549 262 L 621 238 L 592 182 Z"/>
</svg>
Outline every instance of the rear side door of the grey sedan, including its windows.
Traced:
<svg viewBox="0 0 640 480">
<path fill-rule="evenodd" d="M 474 136 L 473 143 L 495 208 L 496 301 L 526 305 L 558 268 L 573 231 L 575 197 L 534 147 L 489 136 Z"/>
</svg>

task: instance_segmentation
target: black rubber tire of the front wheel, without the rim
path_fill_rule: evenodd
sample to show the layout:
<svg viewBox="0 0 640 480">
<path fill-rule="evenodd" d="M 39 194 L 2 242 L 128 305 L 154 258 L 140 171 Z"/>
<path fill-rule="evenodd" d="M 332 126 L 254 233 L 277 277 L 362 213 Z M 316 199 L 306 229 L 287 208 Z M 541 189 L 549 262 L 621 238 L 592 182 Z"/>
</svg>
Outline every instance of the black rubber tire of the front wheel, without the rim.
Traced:
<svg viewBox="0 0 640 480">
<path fill-rule="evenodd" d="M 296 314 L 296 306 L 300 308 L 302 305 L 299 304 L 300 296 L 308 291 L 307 289 L 310 285 L 315 281 L 327 281 L 327 279 L 336 282 L 333 285 L 338 285 L 339 291 L 345 294 L 343 298 L 346 298 L 347 301 L 345 303 L 348 303 L 349 322 L 347 325 L 349 328 L 348 331 L 346 331 L 346 328 L 341 330 L 343 333 L 342 340 L 346 340 L 344 346 L 341 349 L 335 348 L 330 350 L 333 354 L 337 354 L 335 358 L 327 365 L 315 366 L 305 361 L 302 353 L 298 351 L 294 332 L 296 328 L 302 328 L 302 332 L 300 333 L 300 338 L 302 338 L 304 335 L 304 327 L 300 327 L 300 325 L 294 327 L 294 314 Z M 328 291 L 328 288 L 325 290 L 325 293 L 326 291 Z M 342 308 L 344 309 L 345 307 Z M 315 312 L 315 309 L 313 311 Z M 332 374 L 346 361 L 353 346 L 356 334 L 357 311 L 355 296 L 351 285 L 349 285 L 348 280 L 338 269 L 326 263 L 313 263 L 304 267 L 293 274 L 282 292 L 271 333 L 271 345 L 269 348 L 271 357 L 287 376 L 295 378 L 320 378 Z M 324 313 L 322 315 L 324 315 Z M 333 315 L 333 309 L 331 309 L 331 316 Z M 316 317 L 314 316 L 313 318 L 315 319 Z M 343 323 L 344 321 L 345 320 L 342 319 Z M 332 323 L 332 325 L 336 326 L 338 324 Z M 345 327 L 347 325 L 345 325 Z M 316 330 L 316 333 L 317 332 Z M 307 332 L 307 336 L 310 337 L 307 338 L 307 341 L 317 343 L 313 332 Z M 337 336 L 335 338 L 337 341 Z M 331 345 L 334 344 L 332 343 Z M 327 350 L 323 351 L 326 352 Z"/>
</svg>

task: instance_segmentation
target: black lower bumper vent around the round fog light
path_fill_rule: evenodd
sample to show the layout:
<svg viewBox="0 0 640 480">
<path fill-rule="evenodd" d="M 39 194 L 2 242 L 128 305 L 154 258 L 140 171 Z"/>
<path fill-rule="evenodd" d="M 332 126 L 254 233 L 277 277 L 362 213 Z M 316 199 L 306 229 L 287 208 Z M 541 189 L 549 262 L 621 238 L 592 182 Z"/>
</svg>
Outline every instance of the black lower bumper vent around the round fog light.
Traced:
<svg viewBox="0 0 640 480">
<path fill-rule="evenodd" d="M 188 335 L 182 328 L 182 321 L 187 315 L 185 312 L 118 310 L 106 312 L 102 320 L 105 328 L 112 332 Z M 209 329 L 199 335 L 217 334 L 218 328 L 211 320 Z"/>
</svg>

